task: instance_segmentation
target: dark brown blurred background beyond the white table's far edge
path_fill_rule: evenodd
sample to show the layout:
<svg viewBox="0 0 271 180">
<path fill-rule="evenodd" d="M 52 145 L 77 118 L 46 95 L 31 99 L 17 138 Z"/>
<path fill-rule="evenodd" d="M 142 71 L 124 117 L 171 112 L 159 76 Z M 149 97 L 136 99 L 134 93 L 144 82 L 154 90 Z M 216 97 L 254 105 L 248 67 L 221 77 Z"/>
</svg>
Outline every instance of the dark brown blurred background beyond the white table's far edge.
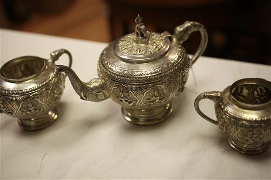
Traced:
<svg viewBox="0 0 271 180">
<path fill-rule="evenodd" d="M 0 0 L 0 27 L 109 43 L 134 31 L 138 13 L 149 31 L 202 23 L 205 56 L 271 65 L 271 0 Z M 199 41 L 192 33 L 188 53 Z"/>
</svg>

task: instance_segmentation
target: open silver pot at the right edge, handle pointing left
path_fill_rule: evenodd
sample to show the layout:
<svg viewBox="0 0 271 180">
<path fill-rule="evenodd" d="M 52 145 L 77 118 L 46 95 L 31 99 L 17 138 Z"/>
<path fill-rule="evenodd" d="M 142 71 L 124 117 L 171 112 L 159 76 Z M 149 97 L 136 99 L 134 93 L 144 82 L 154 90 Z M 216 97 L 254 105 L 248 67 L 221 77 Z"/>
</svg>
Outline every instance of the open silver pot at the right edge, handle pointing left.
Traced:
<svg viewBox="0 0 271 180">
<path fill-rule="evenodd" d="M 217 121 L 199 108 L 203 99 L 213 101 Z M 222 92 L 204 92 L 195 100 L 196 111 L 228 135 L 227 142 L 243 154 L 259 154 L 268 150 L 271 141 L 271 82 L 261 78 L 245 78 Z"/>
</svg>

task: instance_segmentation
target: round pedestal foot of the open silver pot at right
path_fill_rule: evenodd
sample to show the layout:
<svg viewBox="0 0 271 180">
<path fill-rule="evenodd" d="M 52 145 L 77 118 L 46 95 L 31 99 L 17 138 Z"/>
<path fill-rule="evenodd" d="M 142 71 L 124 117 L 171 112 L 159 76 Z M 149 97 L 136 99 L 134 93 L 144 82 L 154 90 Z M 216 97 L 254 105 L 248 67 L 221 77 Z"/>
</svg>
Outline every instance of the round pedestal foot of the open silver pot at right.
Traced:
<svg viewBox="0 0 271 180">
<path fill-rule="evenodd" d="M 227 137 L 227 142 L 233 150 L 237 151 L 238 153 L 247 154 L 247 155 L 264 153 L 265 151 L 269 149 L 269 146 L 270 146 L 270 142 L 264 143 L 256 147 L 242 146 L 239 143 L 235 142 L 230 136 Z"/>
</svg>

